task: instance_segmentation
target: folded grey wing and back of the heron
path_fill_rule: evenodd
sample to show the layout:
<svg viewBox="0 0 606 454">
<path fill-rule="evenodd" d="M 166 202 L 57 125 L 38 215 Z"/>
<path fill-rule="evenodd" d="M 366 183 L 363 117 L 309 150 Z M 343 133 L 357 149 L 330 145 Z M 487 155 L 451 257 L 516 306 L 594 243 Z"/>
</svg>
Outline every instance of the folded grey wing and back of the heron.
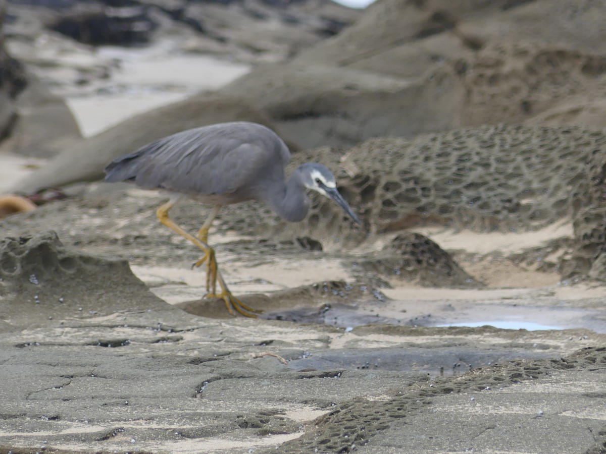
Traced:
<svg viewBox="0 0 606 454">
<path fill-rule="evenodd" d="M 225 194 L 254 184 L 264 170 L 276 165 L 284 169 L 289 159 L 287 146 L 270 129 L 248 122 L 219 123 L 164 137 L 120 157 L 105 168 L 105 180 Z"/>
</svg>

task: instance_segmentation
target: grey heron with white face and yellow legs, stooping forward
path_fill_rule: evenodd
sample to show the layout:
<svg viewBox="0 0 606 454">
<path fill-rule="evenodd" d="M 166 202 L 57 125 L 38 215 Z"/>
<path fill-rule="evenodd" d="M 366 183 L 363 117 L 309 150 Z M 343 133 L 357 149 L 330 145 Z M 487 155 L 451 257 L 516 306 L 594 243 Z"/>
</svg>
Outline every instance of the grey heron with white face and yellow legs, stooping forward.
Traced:
<svg viewBox="0 0 606 454">
<path fill-rule="evenodd" d="M 163 137 L 118 157 L 105 167 L 105 182 L 133 182 L 143 189 L 168 192 L 170 200 L 156 210 L 156 216 L 204 252 L 192 268 L 206 264 L 205 297 L 221 298 L 231 315 L 237 311 L 257 317 L 262 311 L 231 294 L 219 272 L 215 251 L 208 245 L 208 229 L 223 205 L 258 200 L 282 219 L 299 222 L 309 211 L 310 189 L 334 200 L 361 224 L 326 166 L 305 163 L 287 179 L 289 160 L 288 146 L 270 128 L 251 122 L 217 123 Z M 187 197 L 213 206 L 197 237 L 168 216 L 168 211 Z"/>
</svg>

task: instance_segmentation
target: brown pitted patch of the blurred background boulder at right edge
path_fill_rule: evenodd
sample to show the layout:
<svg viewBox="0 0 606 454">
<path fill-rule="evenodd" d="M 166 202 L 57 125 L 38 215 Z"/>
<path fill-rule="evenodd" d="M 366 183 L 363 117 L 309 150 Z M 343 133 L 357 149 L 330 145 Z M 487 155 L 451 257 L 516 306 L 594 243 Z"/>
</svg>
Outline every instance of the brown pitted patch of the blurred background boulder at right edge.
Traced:
<svg viewBox="0 0 606 454">
<path fill-rule="evenodd" d="M 454 65 L 467 93 L 463 125 L 528 122 L 604 129 L 602 54 L 536 42 L 498 43 Z"/>
</svg>

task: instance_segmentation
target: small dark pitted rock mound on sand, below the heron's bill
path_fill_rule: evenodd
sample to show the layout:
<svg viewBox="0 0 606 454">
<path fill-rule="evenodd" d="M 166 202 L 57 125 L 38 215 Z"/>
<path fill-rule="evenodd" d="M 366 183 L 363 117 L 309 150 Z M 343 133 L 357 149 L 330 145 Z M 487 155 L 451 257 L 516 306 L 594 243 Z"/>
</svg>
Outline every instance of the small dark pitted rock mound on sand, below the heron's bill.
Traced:
<svg viewBox="0 0 606 454">
<path fill-rule="evenodd" d="M 359 260 L 365 271 L 424 286 L 479 287 L 482 283 L 454 262 L 448 252 L 424 235 L 404 232 L 375 257 Z"/>
</svg>

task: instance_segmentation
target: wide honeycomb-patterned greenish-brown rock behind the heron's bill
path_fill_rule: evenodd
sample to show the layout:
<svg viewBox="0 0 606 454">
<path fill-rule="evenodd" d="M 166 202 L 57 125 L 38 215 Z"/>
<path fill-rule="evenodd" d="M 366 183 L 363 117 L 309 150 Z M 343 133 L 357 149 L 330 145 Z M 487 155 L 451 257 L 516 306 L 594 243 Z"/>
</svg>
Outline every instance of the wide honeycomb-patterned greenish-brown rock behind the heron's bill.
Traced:
<svg viewBox="0 0 606 454">
<path fill-rule="evenodd" d="M 371 233 L 411 217 L 474 231 L 525 231 L 571 219 L 564 277 L 606 278 L 606 134 L 582 127 L 496 125 L 373 139 L 341 153 L 296 154 L 335 169 L 339 189 Z M 353 243 L 361 233 L 339 208 L 313 199 L 306 234 Z M 300 232 L 301 229 L 298 228 Z M 512 239 L 513 240 L 513 239 Z"/>
</svg>

